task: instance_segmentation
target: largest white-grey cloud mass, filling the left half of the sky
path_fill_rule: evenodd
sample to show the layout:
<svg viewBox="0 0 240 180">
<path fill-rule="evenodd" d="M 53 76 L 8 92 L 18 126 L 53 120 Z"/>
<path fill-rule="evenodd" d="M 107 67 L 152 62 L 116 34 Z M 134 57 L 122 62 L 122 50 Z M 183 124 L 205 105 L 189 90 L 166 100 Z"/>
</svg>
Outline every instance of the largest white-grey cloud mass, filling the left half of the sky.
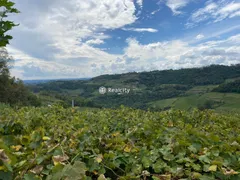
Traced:
<svg viewBox="0 0 240 180">
<path fill-rule="evenodd" d="M 8 49 L 16 59 L 15 72 L 18 75 L 24 72 L 23 78 L 35 66 L 39 74 L 42 71 L 49 75 L 52 71 L 56 77 L 99 75 L 92 72 L 91 64 L 108 64 L 118 55 L 94 45 L 110 38 L 104 33 L 106 30 L 122 28 L 137 20 L 132 0 L 14 2 L 21 13 L 11 18 L 20 26 L 11 32 L 14 39 Z"/>
</svg>

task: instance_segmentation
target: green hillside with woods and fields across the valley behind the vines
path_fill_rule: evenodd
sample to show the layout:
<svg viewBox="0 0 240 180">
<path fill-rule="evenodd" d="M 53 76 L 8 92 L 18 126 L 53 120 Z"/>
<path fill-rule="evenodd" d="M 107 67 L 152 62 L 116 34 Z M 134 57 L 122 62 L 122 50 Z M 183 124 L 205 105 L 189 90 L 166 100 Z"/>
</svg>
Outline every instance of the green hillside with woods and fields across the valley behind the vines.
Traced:
<svg viewBox="0 0 240 180">
<path fill-rule="evenodd" d="M 187 110 L 194 107 L 231 110 L 230 107 L 234 106 L 238 110 L 239 94 L 224 95 L 212 91 L 220 84 L 239 77 L 240 64 L 211 65 L 202 68 L 102 75 L 89 80 L 59 80 L 29 87 L 45 104 L 57 101 L 70 106 L 74 99 L 77 106 L 95 108 L 117 108 L 125 105 L 153 110 Z M 105 94 L 99 93 L 100 87 L 106 88 Z M 234 102 L 228 100 L 230 96 L 235 96 L 232 98 Z"/>
</svg>

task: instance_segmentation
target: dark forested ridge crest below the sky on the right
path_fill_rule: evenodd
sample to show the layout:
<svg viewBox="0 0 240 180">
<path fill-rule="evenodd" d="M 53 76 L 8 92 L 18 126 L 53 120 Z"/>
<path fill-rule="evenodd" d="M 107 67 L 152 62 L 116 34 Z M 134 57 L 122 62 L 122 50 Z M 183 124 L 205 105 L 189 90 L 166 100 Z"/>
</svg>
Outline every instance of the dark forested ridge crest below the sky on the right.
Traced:
<svg viewBox="0 0 240 180">
<path fill-rule="evenodd" d="M 237 64 L 232 66 L 211 65 L 202 68 L 102 75 L 93 78 L 91 81 L 106 82 L 108 80 L 122 80 L 123 83 L 138 82 L 147 86 L 154 86 L 158 84 L 208 85 L 221 84 L 226 79 L 236 78 L 239 76 L 240 64 Z"/>
</svg>

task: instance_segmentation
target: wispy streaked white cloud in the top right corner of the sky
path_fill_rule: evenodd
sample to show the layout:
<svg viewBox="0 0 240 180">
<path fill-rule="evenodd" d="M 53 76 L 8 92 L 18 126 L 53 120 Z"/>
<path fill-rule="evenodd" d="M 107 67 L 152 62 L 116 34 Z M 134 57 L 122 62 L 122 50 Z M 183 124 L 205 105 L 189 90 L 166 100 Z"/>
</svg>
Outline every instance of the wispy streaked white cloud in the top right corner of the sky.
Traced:
<svg viewBox="0 0 240 180">
<path fill-rule="evenodd" d="M 240 3 L 229 0 L 221 0 L 218 3 L 207 1 L 205 7 L 193 12 L 188 22 L 187 28 L 196 26 L 200 22 L 219 22 L 226 18 L 233 18 L 240 15 Z"/>
</svg>

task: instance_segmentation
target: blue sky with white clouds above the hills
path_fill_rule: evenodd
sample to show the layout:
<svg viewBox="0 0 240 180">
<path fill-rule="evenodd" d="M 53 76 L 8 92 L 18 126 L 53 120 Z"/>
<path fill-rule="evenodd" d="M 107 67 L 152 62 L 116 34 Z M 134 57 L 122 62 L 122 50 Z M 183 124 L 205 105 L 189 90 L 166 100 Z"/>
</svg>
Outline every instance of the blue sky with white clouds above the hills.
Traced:
<svg viewBox="0 0 240 180">
<path fill-rule="evenodd" d="M 240 63 L 240 0 L 13 0 L 11 74 L 86 78 Z"/>
</svg>

